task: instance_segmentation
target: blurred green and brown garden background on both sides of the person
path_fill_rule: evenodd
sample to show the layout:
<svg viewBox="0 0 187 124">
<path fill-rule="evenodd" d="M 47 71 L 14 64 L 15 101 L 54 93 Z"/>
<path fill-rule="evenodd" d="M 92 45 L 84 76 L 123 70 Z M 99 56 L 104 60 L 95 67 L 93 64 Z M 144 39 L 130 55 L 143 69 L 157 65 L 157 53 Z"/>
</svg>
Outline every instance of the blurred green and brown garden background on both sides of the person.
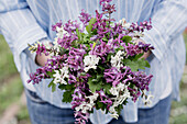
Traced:
<svg viewBox="0 0 187 124">
<path fill-rule="evenodd" d="M 187 32 L 184 33 L 187 47 Z M 0 124 L 31 124 L 23 86 L 13 63 L 12 53 L 0 35 Z M 180 102 L 173 102 L 169 124 L 187 124 L 187 68 L 180 83 Z"/>
</svg>

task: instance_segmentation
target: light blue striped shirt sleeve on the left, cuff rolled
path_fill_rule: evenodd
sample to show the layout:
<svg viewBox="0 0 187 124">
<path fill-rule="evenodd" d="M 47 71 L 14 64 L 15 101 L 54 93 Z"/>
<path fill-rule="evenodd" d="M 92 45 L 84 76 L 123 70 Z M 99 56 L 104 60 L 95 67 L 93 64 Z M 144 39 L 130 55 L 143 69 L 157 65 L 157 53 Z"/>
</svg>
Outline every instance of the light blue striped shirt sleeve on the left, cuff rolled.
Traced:
<svg viewBox="0 0 187 124">
<path fill-rule="evenodd" d="M 25 0 L 0 1 L 0 33 L 9 44 L 18 70 L 21 70 L 21 53 L 28 44 L 47 38 Z"/>
</svg>

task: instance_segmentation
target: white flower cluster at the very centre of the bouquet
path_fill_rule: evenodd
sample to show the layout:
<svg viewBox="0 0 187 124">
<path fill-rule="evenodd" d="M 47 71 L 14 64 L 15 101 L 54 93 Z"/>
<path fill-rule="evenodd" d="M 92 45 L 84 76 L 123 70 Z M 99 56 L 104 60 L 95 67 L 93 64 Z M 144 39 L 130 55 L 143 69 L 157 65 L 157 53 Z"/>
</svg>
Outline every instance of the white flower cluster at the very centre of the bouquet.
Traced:
<svg viewBox="0 0 187 124">
<path fill-rule="evenodd" d="M 87 72 L 90 68 L 96 69 L 97 64 L 99 63 L 100 57 L 97 57 L 96 55 L 88 55 L 85 56 L 84 64 L 85 68 L 84 70 Z"/>
</svg>

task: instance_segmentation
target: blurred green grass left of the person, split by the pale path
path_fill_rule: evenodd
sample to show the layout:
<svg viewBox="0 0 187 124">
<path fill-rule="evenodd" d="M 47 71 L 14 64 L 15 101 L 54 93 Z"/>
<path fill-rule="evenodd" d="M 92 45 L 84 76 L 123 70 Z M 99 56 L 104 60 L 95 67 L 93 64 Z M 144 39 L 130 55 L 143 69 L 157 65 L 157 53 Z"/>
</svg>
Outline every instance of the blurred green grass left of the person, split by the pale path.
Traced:
<svg viewBox="0 0 187 124">
<path fill-rule="evenodd" d="M 20 100 L 23 84 L 13 63 L 13 55 L 0 35 L 0 117 L 4 110 Z M 18 114 L 19 124 L 30 124 L 28 110 L 22 106 Z"/>
</svg>

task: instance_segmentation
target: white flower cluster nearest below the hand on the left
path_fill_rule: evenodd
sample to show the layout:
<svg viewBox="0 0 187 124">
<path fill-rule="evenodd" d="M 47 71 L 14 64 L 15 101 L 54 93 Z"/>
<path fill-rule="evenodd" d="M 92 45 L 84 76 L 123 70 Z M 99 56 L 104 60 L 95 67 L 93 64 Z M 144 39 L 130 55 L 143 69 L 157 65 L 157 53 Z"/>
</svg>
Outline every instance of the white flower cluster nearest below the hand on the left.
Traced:
<svg viewBox="0 0 187 124">
<path fill-rule="evenodd" d="M 55 74 L 53 75 L 53 77 L 55 77 L 54 83 L 67 84 L 67 82 L 65 81 L 65 78 L 69 78 L 68 72 L 69 72 L 68 67 L 63 67 L 59 70 L 55 70 Z"/>
</svg>

